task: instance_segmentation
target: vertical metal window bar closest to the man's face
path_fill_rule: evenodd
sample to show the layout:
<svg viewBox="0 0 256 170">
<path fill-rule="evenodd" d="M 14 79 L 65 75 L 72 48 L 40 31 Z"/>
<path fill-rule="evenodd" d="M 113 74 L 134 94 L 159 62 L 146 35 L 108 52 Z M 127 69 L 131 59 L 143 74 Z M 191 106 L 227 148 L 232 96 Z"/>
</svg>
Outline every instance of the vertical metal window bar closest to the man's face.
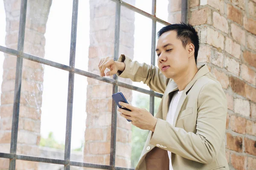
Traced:
<svg viewBox="0 0 256 170">
<path fill-rule="evenodd" d="M 157 0 L 152 0 L 152 15 L 156 15 Z M 151 65 L 155 65 L 155 48 L 156 48 L 156 26 L 157 21 L 152 20 L 152 33 L 151 33 Z M 154 116 L 154 93 L 149 98 L 149 112 Z"/>
</svg>

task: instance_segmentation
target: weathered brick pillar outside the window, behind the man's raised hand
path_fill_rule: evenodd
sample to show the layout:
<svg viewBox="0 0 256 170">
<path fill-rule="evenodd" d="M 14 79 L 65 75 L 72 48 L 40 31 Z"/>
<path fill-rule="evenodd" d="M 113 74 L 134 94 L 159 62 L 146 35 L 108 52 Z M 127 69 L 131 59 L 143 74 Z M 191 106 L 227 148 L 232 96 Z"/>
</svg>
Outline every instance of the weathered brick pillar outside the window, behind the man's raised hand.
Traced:
<svg viewBox="0 0 256 170">
<path fill-rule="evenodd" d="M 134 4 L 135 0 L 130 3 Z M 98 63 L 103 57 L 113 57 L 116 3 L 90 0 L 90 47 L 88 71 L 99 74 Z M 134 12 L 121 7 L 120 54 L 133 58 Z M 129 29 L 128 29 L 129 28 Z M 128 39 L 128 37 L 130 37 Z M 111 78 L 111 77 L 110 77 Z M 119 79 L 120 80 L 120 79 Z M 130 83 L 130 80 L 121 79 Z M 87 120 L 84 162 L 109 165 L 111 142 L 112 85 L 87 78 Z M 132 93 L 122 92 L 131 101 Z M 116 166 L 131 166 L 131 123 L 117 116 Z M 126 135 L 125 135 L 126 134 Z M 130 148 L 127 150 L 127 148 Z M 123 154 L 128 153 L 128 154 Z"/>
</svg>

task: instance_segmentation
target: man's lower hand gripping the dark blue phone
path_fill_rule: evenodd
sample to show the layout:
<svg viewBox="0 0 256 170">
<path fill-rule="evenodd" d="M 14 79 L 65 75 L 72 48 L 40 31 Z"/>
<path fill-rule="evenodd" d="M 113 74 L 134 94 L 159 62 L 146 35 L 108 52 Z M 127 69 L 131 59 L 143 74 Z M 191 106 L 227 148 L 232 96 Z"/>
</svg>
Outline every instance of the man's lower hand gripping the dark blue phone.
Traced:
<svg viewBox="0 0 256 170">
<path fill-rule="evenodd" d="M 119 105 L 131 110 L 126 111 L 118 108 L 118 111 L 121 112 L 121 116 L 123 116 L 125 119 L 131 120 L 131 123 L 140 129 L 151 130 L 154 132 L 157 124 L 157 118 L 155 118 L 150 112 L 148 112 L 146 109 L 137 108 L 124 102 L 119 102 Z"/>
</svg>

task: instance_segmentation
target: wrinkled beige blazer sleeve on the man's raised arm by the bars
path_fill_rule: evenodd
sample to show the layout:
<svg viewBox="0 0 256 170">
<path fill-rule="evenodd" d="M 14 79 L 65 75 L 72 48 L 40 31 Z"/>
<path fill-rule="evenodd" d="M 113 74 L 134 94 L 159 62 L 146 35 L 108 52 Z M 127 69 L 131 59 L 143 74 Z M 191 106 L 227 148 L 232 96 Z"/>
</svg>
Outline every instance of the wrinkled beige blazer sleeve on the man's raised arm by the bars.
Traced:
<svg viewBox="0 0 256 170">
<path fill-rule="evenodd" d="M 166 86 L 170 79 L 167 79 L 159 70 L 159 68 L 154 65 L 147 65 L 145 63 L 138 63 L 137 61 L 132 61 L 129 57 L 121 55 L 117 60 L 119 62 L 125 63 L 125 70 L 118 71 L 117 76 L 123 78 L 129 78 L 133 82 L 143 82 L 148 85 L 153 91 L 158 93 L 164 93 Z"/>
</svg>

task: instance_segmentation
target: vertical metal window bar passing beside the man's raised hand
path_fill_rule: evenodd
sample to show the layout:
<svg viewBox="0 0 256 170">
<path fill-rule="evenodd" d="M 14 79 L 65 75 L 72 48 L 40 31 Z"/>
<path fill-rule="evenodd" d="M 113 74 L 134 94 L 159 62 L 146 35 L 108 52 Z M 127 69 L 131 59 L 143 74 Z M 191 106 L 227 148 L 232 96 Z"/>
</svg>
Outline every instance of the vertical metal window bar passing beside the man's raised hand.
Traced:
<svg viewBox="0 0 256 170">
<path fill-rule="evenodd" d="M 120 38 L 120 17 L 121 17 L 121 4 L 116 3 L 116 19 L 115 19 L 115 42 L 114 42 L 114 60 L 118 59 L 119 55 L 119 38 Z M 117 80 L 116 74 L 113 79 Z M 113 85 L 113 94 L 117 93 L 118 86 Z M 116 119 L 117 119 L 116 103 L 112 100 L 112 115 L 111 115 L 111 146 L 110 146 L 110 166 L 114 169 L 116 164 Z"/>
</svg>

